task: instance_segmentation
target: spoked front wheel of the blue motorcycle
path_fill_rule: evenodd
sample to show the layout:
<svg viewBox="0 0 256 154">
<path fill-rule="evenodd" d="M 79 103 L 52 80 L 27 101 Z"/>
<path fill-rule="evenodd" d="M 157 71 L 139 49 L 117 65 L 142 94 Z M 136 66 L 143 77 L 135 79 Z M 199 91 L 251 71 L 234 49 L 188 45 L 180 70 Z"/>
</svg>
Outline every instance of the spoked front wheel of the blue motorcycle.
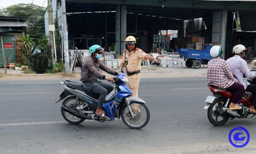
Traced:
<svg viewBox="0 0 256 154">
<path fill-rule="evenodd" d="M 140 129 L 145 127 L 145 125 L 148 124 L 150 118 L 150 113 L 147 105 L 140 102 L 132 102 L 130 106 L 132 108 L 134 118 L 131 116 L 128 106 L 125 106 L 121 113 L 122 121 L 129 128 Z"/>
</svg>

